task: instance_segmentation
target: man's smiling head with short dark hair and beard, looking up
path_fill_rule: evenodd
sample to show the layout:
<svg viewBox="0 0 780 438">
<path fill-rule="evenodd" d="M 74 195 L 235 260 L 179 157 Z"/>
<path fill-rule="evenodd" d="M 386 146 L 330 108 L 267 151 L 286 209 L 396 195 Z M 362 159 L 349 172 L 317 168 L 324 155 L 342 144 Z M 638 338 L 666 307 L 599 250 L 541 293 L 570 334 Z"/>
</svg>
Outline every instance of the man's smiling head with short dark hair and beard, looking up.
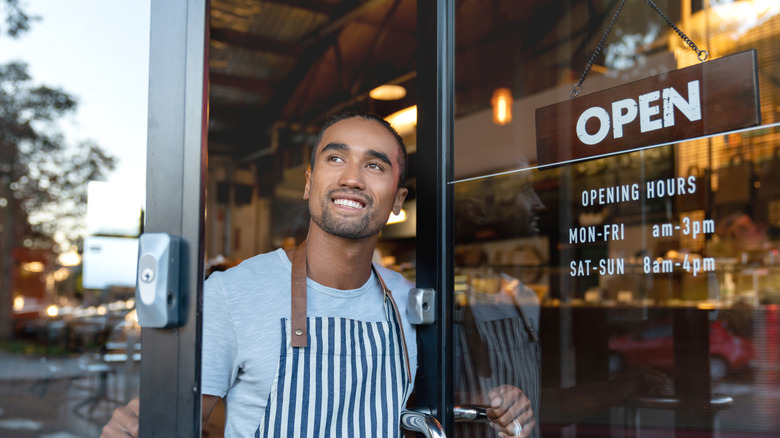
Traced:
<svg viewBox="0 0 780 438">
<path fill-rule="evenodd" d="M 407 193 L 398 188 L 400 150 L 393 134 L 353 117 L 329 127 L 316 148 L 303 193 L 314 223 L 348 239 L 379 233 L 390 212 L 401 211 Z"/>
</svg>

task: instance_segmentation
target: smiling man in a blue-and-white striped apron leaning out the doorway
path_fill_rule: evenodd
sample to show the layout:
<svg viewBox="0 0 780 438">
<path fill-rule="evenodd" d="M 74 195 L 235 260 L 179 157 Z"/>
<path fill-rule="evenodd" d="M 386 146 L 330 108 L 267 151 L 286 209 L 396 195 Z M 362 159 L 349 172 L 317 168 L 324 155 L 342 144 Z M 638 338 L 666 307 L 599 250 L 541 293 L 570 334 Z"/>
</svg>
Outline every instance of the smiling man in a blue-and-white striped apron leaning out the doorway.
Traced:
<svg viewBox="0 0 780 438">
<path fill-rule="evenodd" d="M 307 240 L 206 282 L 204 422 L 224 397 L 227 437 L 400 435 L 417 364 L 410 284 L 371 260 L 406 198 L 406 167 L 383 119 L 348 113 L 325 124 L 306 171 Z M 525 402 L 512 395 L 490 411 L 500 424 Z M 103 436 L 134 436 L 137 421 L 131 402 Z"/>
</svg>

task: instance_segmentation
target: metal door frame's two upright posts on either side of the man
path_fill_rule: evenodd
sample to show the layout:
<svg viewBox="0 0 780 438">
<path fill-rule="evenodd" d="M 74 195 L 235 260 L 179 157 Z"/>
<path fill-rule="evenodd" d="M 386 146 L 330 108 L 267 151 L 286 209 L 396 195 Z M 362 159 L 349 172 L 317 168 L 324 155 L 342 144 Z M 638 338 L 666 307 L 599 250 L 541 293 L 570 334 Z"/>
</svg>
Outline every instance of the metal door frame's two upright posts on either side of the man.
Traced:
<svg viewBox="0 0 780 438">
<path fill-rule="evenodd" d="M 418 1 L 417 287 L 437 291 L 421 326 L 416 405 L 452 430 L 452 0 Z M 145 232 L 182 238 L 186 323 L 143 329 L 141 437 L 201 431 L 201 309 L 208 126 L 208 0 L 152 0 Z M 430 348 L 430 346 L 437 346 Z"/>
</svg>

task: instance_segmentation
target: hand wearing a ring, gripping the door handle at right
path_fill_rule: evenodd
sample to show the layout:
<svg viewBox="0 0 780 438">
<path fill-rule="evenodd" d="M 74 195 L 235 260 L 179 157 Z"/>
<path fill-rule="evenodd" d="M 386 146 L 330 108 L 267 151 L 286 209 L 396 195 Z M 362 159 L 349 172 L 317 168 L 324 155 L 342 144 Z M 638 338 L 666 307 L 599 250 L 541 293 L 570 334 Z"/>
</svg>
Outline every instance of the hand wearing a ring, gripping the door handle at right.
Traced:
<svg viewBox="0 0 780 438">
<path fill-rule="evenodd" d="M 520 388 L 501 385 L 488 393 L 488 399 L 487 415 L 499 437 L 525 438 L 531 434 L 536 425 L 534 410 Z"/>
</svg>

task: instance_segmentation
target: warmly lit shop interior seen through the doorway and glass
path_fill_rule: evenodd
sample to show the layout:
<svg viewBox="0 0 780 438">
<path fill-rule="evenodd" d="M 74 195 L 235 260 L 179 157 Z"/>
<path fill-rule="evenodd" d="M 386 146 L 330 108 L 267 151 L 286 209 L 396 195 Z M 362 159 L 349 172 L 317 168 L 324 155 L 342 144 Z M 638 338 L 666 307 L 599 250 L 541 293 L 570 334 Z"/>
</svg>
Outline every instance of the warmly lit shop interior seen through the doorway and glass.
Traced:
<svg viewBox="0 0 780 438">
<path fill-rule="evenodd" d="M 506 276 L 533 291 L 542 308 L 543 387 L 608 379 L 647 361 L 649 353 L 628 349 L 659 338 L 666 350 L 653 353 L 651 365 L 709 412 L 705 420 L 678 412 L 677 427 L 772 430 L 776 420 L 745 416 L 748 402 L 733 397 L 717 414 L 710 395 L 774 381 L 768 370 L 780 359 L 768 328 L 780 304 L 780 11 L 762 1 L 657 2 L 712 59 L 757 51 L 761 126 L 540 167 L 535 111 L 569 99 L 617 3 L 455 2 L 456 302 L 468 301 L 468 290 L 496 293 Z M 426 147 L 415 136 L 416 2 L 211 7 L 207 269 L 305 238 L 303 175 L 318 126 L 333 112 L 359 109 L 392 118 L 406 141 L 410 194 L 403 216 L 385 227 L 376 260 L 413 281 L 415 178 L 426 171 L 415 159 Z M 583 93 L 698 62 L 644 2 L 629 3 Z M 398 94 L 375 94 L 381 90 Z M 671 190 L 679 178 L 690 183 L 674 196 L 600 206 L 581 199 L 583 191 L 634 183 L 643 192 L 650 182 Z M 587 239 L 607 225 L 619 226 L 619 238 Z M 580 275 L 583 260 L 604 269 Z M 721 329 L 720 344 L 751 344 L 749 351 L 716 354 L 725 348 L 713 340 Z M 674 410 L 653 408 L 646 424 L 669 424 Z M 588 421 L 614 423 L 614 413 L 605 415 Z"/>
</svg>

